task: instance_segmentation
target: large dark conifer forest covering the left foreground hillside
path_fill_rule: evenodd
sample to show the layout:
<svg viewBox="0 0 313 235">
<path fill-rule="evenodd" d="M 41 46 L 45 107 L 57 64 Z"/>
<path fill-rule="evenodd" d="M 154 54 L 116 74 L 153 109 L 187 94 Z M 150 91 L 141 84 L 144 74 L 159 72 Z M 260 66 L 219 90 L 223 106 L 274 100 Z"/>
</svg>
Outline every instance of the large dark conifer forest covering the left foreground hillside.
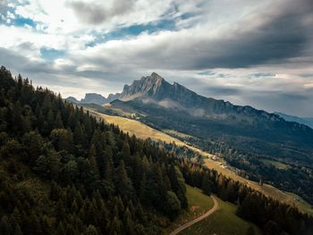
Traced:
<svg viewBox="0 0 313 235">
<path fill-rule="evenodd" d="M 0 234 L 161 234 L 188 208 L 173 155 L 0 69 Z"/>
</svg>

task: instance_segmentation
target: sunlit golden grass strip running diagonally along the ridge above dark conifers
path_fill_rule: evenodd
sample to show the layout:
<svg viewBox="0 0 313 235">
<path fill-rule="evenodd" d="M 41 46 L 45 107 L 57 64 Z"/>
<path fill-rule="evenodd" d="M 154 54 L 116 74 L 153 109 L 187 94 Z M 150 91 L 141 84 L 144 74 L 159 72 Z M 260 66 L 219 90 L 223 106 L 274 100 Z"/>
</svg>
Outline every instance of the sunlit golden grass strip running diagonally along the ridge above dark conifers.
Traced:
<svg viewBox="0 0 313 235">
<path fill-rule="evenodd" d="M 232 178 L 233 180 L 238 180 L 243 184 L 248 185 L 251 189 L 258 190 L 259 192 L 265 194 L 267 197 L 272 197 L 278 201 L 283 201 L 284 203 L 288 203 L 291 205 L 298 206 L 298 208 L 304 212 L 313 214 L 312 206 L 310 206 L 308 203 L 301 201 L 294 200 L 294 195 L 290 193 L 283 192 L 282 190 L 276 189 L 275 187 L 264 184 L 263 186 L 259 186 L 257 182 L 244 179 L 243 177 L 237 175 L 235 172 L 233 172 L 230 169 L 225 169 L 221 166 L 221 161 L 213 161 L 211 160 L 211 157 L 213 155 L 207 154 L 206 152 L 196 148 L 196 147 L 190 147 L 189 145 L 185 144 L 181 140 L 177 138 L 173 138 L 167 134 L 165 134 L 162 131 L 154 130 L 150 127 L 148 127 L 146 124 L 143 124 L 136 120 L 131 120 L 124 117 L 119 116 L 110 116 L 103 113 L 97 113 L 92 110 L 90 110 L 90 113 L 93 113 L 99 118 L 103 118 L 106 120 L 106 122 L 114 123 L 120 127 L 121 130 L 125 132 L 129 132 L 130 134 L 136 135 L 138 138 L 151 138 L 155 141 L 165 141 L 166 143 L 173 143 L 177 146 L 184 146 L 189 147 L 190 150 L 198 153 L 199 155 L 203 155 L 206 159 L 204 161 L 204 164 L 207 165 L 210 169 L 215 169 L 217 172 L 223 173 L 225 176 Z"/>
</svg>

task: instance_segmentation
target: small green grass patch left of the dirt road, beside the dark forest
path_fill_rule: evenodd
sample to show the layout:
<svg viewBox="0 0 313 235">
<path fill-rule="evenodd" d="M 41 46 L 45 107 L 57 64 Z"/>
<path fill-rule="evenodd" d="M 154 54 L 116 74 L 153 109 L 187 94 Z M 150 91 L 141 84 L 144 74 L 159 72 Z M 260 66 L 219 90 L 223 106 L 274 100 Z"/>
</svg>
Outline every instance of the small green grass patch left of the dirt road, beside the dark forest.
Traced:
<svg viewBox="0 0 313 235">
<path fill-rule="evenodd" d="M 180 214 L 175 221 L 171 223 L 171 226 L 166 228 L 165 233 L 170 233 L 182 224 L 192 221 L 201 214 L 205 214 L 214 206 L 212 198 L 203 194 L 200 189 L 193 188 L 188 184 L 186 184 L 186 189 L 189 210 L 188 212 Z"/>
</svg>

